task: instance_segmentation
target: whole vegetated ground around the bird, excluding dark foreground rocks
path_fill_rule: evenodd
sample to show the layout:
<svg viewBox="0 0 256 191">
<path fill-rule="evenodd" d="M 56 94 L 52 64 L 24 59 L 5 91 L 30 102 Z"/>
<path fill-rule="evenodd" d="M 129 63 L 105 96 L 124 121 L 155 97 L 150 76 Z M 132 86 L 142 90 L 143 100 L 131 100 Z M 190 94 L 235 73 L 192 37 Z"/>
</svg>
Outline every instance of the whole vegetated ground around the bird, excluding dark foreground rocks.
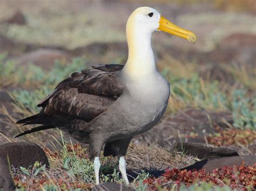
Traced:
<svg viewBox="0 0 256 191">
<path fill-rule="evenodd" d="M 50 162 L 50 169 L 39 164 L 11 168 L 17 190 L 93 187 L 87 145 L 59 130 L 15 139 L 31 128 L 15 122 L 38 112 L 39 100 L 72 72 L 102 63 L 124 64 L 126 20 L 144 5 L 193 31 L 198 41 L 191 44 L 163 32 L 153 34 L 157 68 L 171 83 L 172 95 L 160 123 L 132 140 L 126 155 L 131 187 L 250 190 L 256 186 L 253 162 L 211 172 L 185 169 L 204 159 L 256 153 L 254 1 L 2 0 L 0 5 L 0 145 L 37 143 Z M 101 160 L 101 182 L 123 183 L 117 160 Z"/>
</svg>

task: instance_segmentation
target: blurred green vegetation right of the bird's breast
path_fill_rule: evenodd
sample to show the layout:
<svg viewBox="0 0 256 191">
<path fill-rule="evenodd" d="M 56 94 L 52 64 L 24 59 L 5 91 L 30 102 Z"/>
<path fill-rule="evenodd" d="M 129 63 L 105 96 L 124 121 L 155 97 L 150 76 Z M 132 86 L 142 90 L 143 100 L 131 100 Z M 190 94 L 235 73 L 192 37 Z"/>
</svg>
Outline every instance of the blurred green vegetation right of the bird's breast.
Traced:
<svg viewBox="0 0 256 191">
<path fill-rule="evenodd" d="M 204 81 L 198 74 L 175 77 L 164 70 L 163 75 L 172 87 L 171 111 L 185 107 L 231 111 L 235 128 L 256 129 L 256 98 L 248 96 L 248 89 L 224 90 L 218 81 Z"/>
</svg>

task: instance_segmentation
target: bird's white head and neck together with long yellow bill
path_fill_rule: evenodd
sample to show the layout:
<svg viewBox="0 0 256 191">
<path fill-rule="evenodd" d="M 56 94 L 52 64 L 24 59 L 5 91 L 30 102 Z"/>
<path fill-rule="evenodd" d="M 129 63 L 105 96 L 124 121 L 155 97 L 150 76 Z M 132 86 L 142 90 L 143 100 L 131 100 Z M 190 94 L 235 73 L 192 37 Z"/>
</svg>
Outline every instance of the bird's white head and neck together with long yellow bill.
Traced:
<svg viewBox="0 0 256 191">
<path fill-rule="evenodd" d="M 156 69 L 151 48 L 151 35 L 154 31 L 171 33 L 192 43 L 197 39 L 193 32 L 172 24 L 157 10 L 146 6 L 138 8 L 132 12 L 126 24 L 129 57 L 124 69 L 128 73 L 142 75 Z"/>
</svg>

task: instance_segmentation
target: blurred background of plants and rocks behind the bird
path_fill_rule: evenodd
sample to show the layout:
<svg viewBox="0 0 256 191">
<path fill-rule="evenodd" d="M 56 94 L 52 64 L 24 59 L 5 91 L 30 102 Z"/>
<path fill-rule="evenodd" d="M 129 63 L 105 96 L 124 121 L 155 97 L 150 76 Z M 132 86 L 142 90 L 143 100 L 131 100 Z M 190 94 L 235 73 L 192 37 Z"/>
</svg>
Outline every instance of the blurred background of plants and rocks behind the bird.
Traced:
<svg viewBox="0 0 256 191">
<path fill-rule="evenodd" d="M 153 34 L 157 67 L 172 84 L 172 97 L 161 122 L 132 142 L 168 151 L 181 140 L 238 150 L 255 144 L 254 0 L 0 0 L 0 144 L 39 140 L 46 145 L 51 134 L 58 139 L 58 130 L 13 139 L 22 130 L 15 121 L 38 112 L 37 102 L 72 72 L 125 64 L 125 25 L 139 6 L 193 31 L 197 43 Z M 159 163 L 163 169 L 195 160 L 173 161 L 136 160 L 138 168 Z"/>
</svg>

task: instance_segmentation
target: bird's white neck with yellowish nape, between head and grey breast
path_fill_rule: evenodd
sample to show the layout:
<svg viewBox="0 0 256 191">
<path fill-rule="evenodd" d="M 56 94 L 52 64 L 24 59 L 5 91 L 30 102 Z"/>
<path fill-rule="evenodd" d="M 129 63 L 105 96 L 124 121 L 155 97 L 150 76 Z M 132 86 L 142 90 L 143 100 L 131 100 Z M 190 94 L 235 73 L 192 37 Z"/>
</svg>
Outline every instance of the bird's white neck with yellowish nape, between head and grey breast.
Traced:
<svg viewBox="0 0 256 191">
<path fill-rule="evenodd" d="M 132 77 L 144 77 L 156 72 L 156 63 L 151 47 L 151 31 L 140 27 L 126 26 L 129 55 L 123 72 Z"/>
</svg>

